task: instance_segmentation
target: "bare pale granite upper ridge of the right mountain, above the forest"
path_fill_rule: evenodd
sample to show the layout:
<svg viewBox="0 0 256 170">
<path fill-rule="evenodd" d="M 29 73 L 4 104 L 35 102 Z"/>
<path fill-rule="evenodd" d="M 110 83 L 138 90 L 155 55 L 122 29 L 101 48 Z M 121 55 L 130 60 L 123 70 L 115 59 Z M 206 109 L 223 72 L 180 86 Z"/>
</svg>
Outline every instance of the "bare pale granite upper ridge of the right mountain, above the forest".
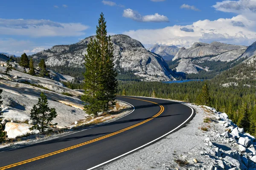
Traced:
<svg viewBox="0 0 256 170">
<path fill-rule="evenodd" d="M 213 60 L 221 59 L 222 61 L 230 61 L 240 57 L 246 48 L 247 47 L 243 45 L 230 45 L 221 42 L 212 42 L 210 44 L 195 42 L 191 48 L 180 48 L 172 60 L 195 57 L 215 57 Z"/>
</svg>

